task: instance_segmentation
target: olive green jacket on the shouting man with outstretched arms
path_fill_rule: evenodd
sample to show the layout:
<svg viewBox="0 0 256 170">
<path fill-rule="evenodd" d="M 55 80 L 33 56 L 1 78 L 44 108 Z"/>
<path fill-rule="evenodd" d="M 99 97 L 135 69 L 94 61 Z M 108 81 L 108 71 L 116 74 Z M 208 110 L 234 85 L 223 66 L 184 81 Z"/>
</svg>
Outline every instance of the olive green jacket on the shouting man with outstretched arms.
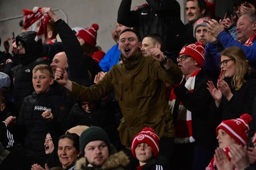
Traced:
<svg viewBox="0 0 256 170">
<path fill-rule="evenodd" d="M 136 60 L 114 65 L 100 82 L 90 88 L 72 82 L 70 94 L 94 102 L 114 90 L 123 115 L 118 131 L 122 145 L 128 149 L 133 137 L 144 127 L 152 127 L 160 138 L 174 137 L 165 82 L 180 83 L 182 72 L 175 63 L 169 62 L 171 67 L 166 70 L 152 56 L 143 57 L 139 52 Z"/>
</svg>

